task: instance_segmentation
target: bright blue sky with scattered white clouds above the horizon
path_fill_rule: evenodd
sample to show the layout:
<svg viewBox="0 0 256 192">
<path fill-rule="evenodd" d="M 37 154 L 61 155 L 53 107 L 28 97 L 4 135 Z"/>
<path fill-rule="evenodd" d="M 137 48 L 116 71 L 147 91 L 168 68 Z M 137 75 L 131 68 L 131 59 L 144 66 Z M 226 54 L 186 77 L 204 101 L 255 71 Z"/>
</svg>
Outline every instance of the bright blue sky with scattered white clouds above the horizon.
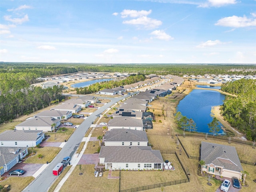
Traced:
<svg viewBox="0 0 256 192">
<path fill-rule="evenodd" d="M 256 64 L 256 0 L 1 0 L 0 61 Z"/>
</svg>

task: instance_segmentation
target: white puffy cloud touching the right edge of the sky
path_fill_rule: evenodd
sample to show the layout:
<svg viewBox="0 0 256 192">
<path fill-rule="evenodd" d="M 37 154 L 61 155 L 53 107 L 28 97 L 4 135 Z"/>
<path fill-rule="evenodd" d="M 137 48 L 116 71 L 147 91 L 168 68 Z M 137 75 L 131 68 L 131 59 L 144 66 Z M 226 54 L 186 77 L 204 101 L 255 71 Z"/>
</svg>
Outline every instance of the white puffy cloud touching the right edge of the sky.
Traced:
<svg viewBox="0 0 256 192">
<path fill-rule="evenodd" d="M 246 16 L 238 17 L 225 17 L 217 21 L 215 25 L 225 26 L 225 27 L 250 27 L 256 26 L 256 19 L 250 19 Z"/>
</svg>

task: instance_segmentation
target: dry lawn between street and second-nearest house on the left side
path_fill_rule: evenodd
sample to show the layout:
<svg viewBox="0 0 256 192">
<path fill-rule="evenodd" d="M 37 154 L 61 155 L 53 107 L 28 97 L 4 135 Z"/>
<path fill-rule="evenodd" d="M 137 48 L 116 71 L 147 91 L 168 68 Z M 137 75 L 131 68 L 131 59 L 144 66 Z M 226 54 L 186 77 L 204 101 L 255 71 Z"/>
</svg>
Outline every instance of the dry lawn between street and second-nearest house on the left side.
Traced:
<svg viewBox="0 0 256 192">
<path fill-rule="evenodd" d="M 68 138 L 70 138 L 75 130 L 75 128 L 66 128 L 66 131 L 64 132 L 62 132 L 61 130 L 58 130 L 55 133 L 47 132 L 46 135 L 50 136 L 47 142 L 64 142 L 65 140 L 68 140 Z"/>
</svg>

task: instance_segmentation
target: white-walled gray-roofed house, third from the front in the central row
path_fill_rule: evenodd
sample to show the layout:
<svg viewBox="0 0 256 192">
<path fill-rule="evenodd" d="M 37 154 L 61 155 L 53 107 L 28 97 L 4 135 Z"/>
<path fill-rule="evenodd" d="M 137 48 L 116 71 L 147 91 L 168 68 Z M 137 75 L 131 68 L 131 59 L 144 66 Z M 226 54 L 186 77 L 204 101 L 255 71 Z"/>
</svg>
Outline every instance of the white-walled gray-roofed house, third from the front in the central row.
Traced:
<svg viewBox="0 0 256 192">
<path fill-rule="evenodd" d="M 131 117 L 114 117 L 108 122 L 108 130 L 112 129 L 133 129 L 143 130 L 142 119 L 136 119 Z"/>
</svg>

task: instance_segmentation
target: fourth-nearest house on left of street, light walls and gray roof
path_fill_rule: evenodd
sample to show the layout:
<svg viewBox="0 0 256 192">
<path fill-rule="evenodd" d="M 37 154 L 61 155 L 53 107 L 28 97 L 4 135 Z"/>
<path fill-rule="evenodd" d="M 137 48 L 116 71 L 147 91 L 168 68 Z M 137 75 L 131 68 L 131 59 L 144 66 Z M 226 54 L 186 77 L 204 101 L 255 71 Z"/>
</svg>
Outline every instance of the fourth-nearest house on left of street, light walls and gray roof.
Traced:
<svg viewBox="0 0 256 192">
<path fill-rule="evenodd" d="M 45 110 L 43 112 L 40 112 L 34 117 L 53 117 L 55 119 L 62 119 L 64 116 L 64 119 L 67 120 L 70 117 L 72 117 L 72 112 L 71 111 L 60 111 L 60 110 Z"/>
</svg>

